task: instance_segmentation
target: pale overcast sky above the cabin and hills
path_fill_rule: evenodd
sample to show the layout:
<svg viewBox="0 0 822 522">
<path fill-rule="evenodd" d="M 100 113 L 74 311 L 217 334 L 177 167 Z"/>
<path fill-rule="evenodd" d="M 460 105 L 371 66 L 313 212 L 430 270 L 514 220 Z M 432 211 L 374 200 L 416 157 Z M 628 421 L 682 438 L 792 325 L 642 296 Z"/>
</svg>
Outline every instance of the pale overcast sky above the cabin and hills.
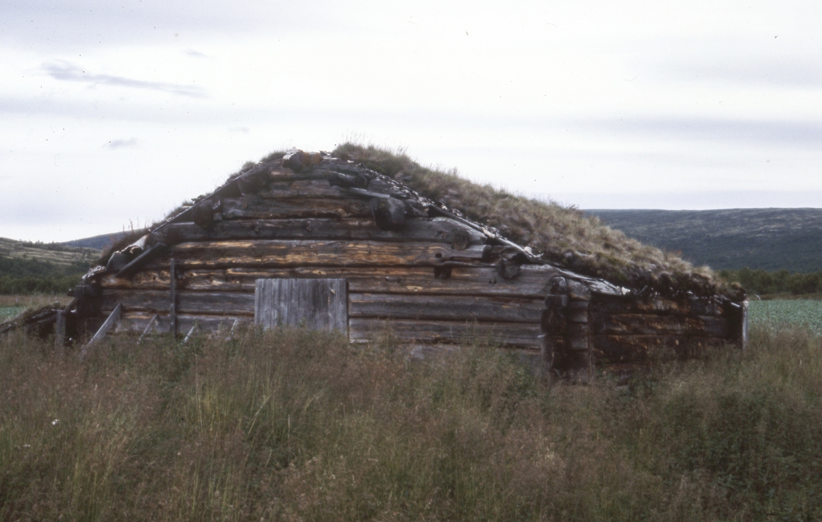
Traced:
<svg viewBox="0 0 822 522">
<path fill-rule="evenodd" d="M 0 236 L 344 140 L 579 208 L 822 206 L 822 2 L 0 2 Z"/>
</svg>

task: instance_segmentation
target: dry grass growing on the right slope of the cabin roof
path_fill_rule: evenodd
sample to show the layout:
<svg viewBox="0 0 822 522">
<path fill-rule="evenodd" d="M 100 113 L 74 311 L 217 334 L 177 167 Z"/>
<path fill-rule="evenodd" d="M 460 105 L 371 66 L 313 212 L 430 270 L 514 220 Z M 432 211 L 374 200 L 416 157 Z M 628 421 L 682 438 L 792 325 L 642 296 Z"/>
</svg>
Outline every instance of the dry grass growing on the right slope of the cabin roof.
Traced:
<svg viewBox="0 0 822 522">
<path fill-rule="evenodd" d="M 647 286 L 663 294 L 723 293 L 737 299 L 744 295 L 740 286 L 723 282 L 710 268 L 695 268 L 677 255 L 643 245 L 577 208 L 513 195 L 455 172 L 423 167 L 404 152 L 346 143 L 334 154 L 393 177 L 473 221 L 496 227 L 508 239 L 575 272 L 637 290 Z"/>
</svg>

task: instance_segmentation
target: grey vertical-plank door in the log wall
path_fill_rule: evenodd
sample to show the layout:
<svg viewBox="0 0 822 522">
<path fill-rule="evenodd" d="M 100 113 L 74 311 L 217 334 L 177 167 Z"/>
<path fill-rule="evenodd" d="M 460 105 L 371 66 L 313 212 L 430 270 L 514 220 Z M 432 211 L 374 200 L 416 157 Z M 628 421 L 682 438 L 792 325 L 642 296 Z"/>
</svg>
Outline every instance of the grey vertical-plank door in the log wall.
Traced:
<svg viewBox="0 0 822 522">
<path fill-rule="evenodd" d="M 254 323 L 348 332 L 349 299 L 344 279 L 257 279 Z"/>
</svg>

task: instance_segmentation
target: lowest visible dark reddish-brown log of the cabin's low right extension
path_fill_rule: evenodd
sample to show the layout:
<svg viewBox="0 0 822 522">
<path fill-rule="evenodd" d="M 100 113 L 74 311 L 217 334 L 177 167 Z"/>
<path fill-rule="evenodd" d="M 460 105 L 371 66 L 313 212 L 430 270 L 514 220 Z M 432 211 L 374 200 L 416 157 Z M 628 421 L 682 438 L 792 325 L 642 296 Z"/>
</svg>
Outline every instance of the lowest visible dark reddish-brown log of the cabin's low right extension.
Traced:
<svg viewBox="0 0 822 522">
<path fill-rule="evenodd" d="M 592 337 L 597 364 L 688 359 L 728 344 L 721 337 L 617 336 Z"/>
</svg>

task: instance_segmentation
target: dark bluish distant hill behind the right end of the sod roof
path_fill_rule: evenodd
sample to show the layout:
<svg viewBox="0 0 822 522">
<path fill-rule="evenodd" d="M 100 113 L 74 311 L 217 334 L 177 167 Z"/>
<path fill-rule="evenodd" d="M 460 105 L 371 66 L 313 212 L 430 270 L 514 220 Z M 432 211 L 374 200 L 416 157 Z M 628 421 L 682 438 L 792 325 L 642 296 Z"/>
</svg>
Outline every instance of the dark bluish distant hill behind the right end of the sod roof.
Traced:
<svg viewBox="0 0 822 522">
<path fill-rule="evenodd" d="M 822 270 L 822 208 L 585 210 L 609 227 L 695 265 Z"/>
</svg>

